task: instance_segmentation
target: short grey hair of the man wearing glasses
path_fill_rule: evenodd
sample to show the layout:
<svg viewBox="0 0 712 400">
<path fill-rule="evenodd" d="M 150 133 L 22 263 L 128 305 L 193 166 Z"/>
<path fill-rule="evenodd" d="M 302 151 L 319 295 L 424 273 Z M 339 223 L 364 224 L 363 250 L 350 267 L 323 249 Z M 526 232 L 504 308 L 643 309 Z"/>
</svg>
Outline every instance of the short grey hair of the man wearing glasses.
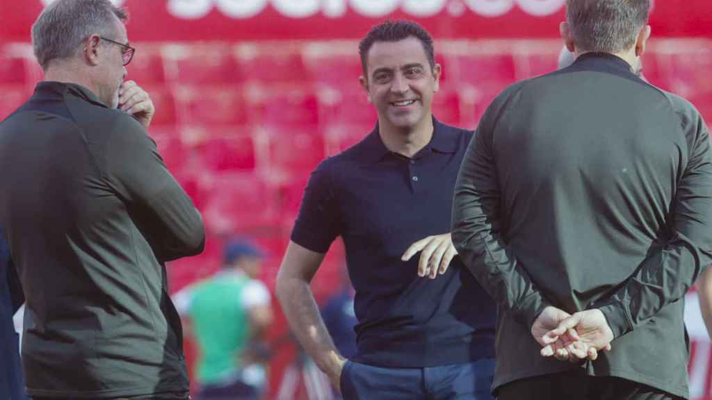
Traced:
<svg viewBox="0 0 712 400">
<path fill-rule="evenodd" d="M 127 19 L 124 10 L 109 0 L 56 0 L 32 26 L 37 62 L 46 70 L 52 60 L 71 58 L 93 33 L 111 36 L 114 21 Z"/>
</svg>

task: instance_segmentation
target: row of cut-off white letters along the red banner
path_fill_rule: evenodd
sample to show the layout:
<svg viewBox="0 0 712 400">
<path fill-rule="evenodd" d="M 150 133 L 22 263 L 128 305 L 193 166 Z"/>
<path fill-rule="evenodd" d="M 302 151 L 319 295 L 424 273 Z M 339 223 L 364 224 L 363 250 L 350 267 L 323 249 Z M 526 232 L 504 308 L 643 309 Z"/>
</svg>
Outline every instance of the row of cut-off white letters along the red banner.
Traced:
<svg viewBox="0 0 712 400">
<path fill-rule="evenodd" d="M 46 4 L 53 0 L 42 0 Z M 125 0 L 112 0 L 122 4 Z M 168 11 L 180 19 L 198 19 L 217 6 L 226 16 L 248 19 L 260 14 L 268 4 L 290 18 L 307 18 L 322 11 L 329 18 L 340 18 L 350 6 L 357 14 L 379 18 L 402 9 L 406 14 L 428 17 L 439 14 L 446 6 L 466 6 L 475 14 L 494 18 L 503 16 L 515 6 L 533 16 L 547 16 L 559 11 L 566 0 L 168 0 Z M 464 4 L 464 5 L 463 5 Z"/>
</svg>

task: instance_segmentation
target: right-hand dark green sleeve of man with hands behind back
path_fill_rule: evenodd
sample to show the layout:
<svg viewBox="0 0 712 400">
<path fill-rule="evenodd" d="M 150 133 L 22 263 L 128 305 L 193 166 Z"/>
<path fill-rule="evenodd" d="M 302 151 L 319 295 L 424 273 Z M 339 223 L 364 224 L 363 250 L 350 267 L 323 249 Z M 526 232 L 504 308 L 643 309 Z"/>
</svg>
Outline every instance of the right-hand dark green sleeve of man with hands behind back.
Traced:
<svg viewBox="0 0 712 400">
<path fill-rule="evenodd" d="M 684 297 L 712 263 L 712 152 L 697 110 L 674 98 L 689 151 L 669 216 L 666 243 L 646 258 L 611 297 L 593 307 L 607 318 L 614 337 L 631 332 L 663 307 Z"/>
</svg>

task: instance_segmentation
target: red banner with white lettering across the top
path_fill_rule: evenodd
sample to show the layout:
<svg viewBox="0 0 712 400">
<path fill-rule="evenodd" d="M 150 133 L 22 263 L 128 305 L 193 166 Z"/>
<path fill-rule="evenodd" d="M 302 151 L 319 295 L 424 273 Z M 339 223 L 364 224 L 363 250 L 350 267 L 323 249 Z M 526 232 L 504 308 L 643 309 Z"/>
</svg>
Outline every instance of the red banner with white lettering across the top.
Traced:
<svg viewBox="0 0 712 400">
<path fill-rule="evenodd" d="M 1 0 L 0 41 L 29 41 L 53 0 Z M 413 19 L 435 38 L 551 38 L 565 0 L 112 0 L 132 41 L 359 38 L 378 21 Z M 710 0 L 656 0 L 654 36 L 709 36 Z"/>
</svg>

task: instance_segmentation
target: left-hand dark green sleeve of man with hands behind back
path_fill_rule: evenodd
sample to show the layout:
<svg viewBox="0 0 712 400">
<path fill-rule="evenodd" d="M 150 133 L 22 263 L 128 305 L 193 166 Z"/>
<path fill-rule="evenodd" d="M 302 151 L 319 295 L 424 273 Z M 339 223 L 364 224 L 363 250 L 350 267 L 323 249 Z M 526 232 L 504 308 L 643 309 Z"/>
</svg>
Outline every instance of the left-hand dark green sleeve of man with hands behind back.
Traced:
<svg viewBox="0 0 712 400">
<path fill-rule="evenodd" d="M 550 305 L 501 237 L 501 191 L 493 152 L 496 122 L 511 90 L 486 110 L 471 140 L 455 186 L 452 238 L 461 260 L 514 319 L 531 327 Z"/>
</svg>

